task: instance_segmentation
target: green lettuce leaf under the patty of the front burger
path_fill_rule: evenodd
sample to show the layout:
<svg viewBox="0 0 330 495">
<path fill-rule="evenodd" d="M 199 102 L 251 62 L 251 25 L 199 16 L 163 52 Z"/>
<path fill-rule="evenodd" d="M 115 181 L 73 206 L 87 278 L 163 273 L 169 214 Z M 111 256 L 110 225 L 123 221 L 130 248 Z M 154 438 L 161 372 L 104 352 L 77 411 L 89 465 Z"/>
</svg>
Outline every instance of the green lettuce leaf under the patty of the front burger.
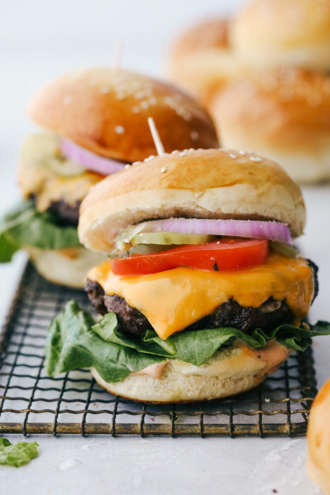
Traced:
<svg viewBox="0 0 330 495">
<path fill-rule="evenodd" d="M 318 335 L 330 335 L 330 323 L 319 321 L 311 330 L 284 324 L 267 333 L 257 328 L 250 334 L 236 328 L 185 331 L 171 335 L 166 341 L 154 330 L 148 330 L 137 338 L 118 330 L 114 313 L 94 323 L 90 313 L 72 300 L 50 323 L 45 366 L 50 376 L 94 366 L 106 382 L 118 382 L 130 372 L 166 358 L 200 366 L 221 346 L 229 346 L 235 339 L 258 348 L 276 338 L 285 347 L 303 351 L 311 344 L 311 338 Z"/>
</svg>

